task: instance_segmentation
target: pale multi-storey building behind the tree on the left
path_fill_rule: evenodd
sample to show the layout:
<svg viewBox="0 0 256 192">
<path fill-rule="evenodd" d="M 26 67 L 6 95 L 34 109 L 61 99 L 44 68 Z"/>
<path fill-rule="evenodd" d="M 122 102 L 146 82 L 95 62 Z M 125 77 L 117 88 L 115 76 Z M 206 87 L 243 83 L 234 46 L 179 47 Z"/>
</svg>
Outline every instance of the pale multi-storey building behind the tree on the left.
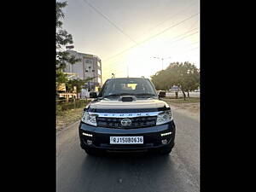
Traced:
<svg viewBox="0 0 256 192">
<path fill-rule="evenodd" d="M 76 59 L 80 61 L 74 64 L 67 64 L 64 69 L 65 73 L 75 74 L 73 77 L 79 79 L 93 78 L 84 84 L 84 89 L 81 93 L 81 97 L 89 96 L 90 91 L 98 91 L 99 87 L 102 87 L 102 61 L 96 55 L 89 55 L 79 53 L 74 50 L 67 50 L 70 55 L 74 55 Z"/>
</svg>

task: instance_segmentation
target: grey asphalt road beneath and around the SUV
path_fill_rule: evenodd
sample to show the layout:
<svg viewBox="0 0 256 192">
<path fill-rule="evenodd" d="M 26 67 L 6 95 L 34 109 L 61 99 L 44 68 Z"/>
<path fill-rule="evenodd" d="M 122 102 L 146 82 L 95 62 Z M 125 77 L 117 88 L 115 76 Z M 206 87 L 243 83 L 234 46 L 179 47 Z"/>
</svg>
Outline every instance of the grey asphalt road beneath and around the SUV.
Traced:
<svg viewBox="0 0 256 192">
<path fill-rule="evenodd" d="M 94 157 L 79 146 L 78 125 L 57 132 L 57 192 L 199 191 L 199 120 L 173 110 L 172 153 Z"/>
</svg>

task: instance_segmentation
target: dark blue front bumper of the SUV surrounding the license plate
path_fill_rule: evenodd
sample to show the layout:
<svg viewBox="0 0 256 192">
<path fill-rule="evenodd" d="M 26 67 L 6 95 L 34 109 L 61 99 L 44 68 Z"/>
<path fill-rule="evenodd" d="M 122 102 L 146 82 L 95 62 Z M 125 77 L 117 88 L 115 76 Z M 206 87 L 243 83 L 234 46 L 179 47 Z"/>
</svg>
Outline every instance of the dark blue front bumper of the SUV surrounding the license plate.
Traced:
<svg viewBox="0 0 256 192">
<path fill-rule="evenodd" d="M 165 125 L 137 129 L 96 127 L 80 122 L 79 138 L 81 148 L 95 148 L 107 151 L 148 151 L 172 148 L 174 146 L 175 131 L 176 127 L 173 120 Z M 172 134 L 162 137 L 161 134 L 166 132 L 172 132 Z M 87 136 L 84 136 L 83 133 L 87 134 Z M 143 144 L 110 144 L 110 137 L 113 136 L 143 136 Z M 166 144 L 162 143 L 164 139 L 167 140 Z M 92 141 L 92 143 L 89 145 L 87 140 Z"/>
</svg>

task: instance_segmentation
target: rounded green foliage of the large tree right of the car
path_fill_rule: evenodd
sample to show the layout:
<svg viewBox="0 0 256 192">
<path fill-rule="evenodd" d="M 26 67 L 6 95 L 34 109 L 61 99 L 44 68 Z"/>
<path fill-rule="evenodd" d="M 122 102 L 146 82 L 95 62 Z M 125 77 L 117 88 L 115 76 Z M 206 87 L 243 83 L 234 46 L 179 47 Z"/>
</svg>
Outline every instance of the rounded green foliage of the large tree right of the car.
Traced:
<svg viewBox="0 0 256 192">
<path fill-rule="evenodd" d="M 184 63 L 173 62 L 165 70 L 152 75 L 151 79 L 157 90 L 169 90 L 173 85 L 177 85 L 184 95 L 184 91 L 198 88 L 200 73 L 199 69 L 188 61 Z"/>
</svg>

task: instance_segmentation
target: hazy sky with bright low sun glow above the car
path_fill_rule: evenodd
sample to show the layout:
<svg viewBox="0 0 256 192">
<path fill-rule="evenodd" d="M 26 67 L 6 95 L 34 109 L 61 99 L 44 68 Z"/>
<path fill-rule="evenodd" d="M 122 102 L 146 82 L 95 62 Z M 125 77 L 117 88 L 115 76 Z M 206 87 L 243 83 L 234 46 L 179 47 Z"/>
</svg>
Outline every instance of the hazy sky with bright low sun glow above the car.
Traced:
<svg viewBox="0 0 256 192">
<path fill-rule="evenodd" d="M 60 1 L 63 2 L 63 1 Z M 86 3 L 87 2 L 87 3 Z M 89 5 L 89 4 L 90 5 Z M 142 77 L 189 61 L 200 68 L 199 0 L 67 0 L 74 49 L 102 60 L 102 80 Z"/>
</svg>

